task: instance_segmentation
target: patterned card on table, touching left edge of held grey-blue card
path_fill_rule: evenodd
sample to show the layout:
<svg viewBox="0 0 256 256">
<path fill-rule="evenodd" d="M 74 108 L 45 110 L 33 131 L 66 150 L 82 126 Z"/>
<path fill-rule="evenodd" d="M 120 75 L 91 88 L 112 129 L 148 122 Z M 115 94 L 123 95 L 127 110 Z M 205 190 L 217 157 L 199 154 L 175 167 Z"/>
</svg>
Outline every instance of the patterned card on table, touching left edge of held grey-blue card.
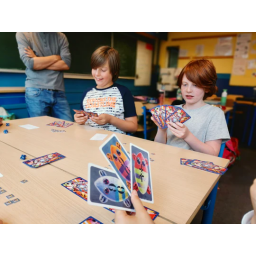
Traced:
<svg viewBox="0 0 256 256">
<path fill-rule="evenodd" d="M 80 196 L 85 201 L 87 201 L 87 192 L 88 192 L 88 181 L 77 177 L 75 179 L 69 180 L 61 184 L 64 188 L 73 192 L 74 194 Z"/>
</svg>

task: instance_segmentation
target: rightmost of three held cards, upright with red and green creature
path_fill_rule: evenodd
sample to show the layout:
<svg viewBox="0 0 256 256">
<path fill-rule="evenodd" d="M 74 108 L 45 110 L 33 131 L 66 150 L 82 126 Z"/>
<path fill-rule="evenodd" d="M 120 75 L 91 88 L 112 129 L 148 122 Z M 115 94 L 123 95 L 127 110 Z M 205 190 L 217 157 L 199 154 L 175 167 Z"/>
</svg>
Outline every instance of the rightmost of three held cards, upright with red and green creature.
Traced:
<svg viewBox="0 0 256 256">
<path fill-rule="evenodd" d="M 130 143 L 131 184 L 142 201 L 154 203 L 149 152 Z"/>
</svg>

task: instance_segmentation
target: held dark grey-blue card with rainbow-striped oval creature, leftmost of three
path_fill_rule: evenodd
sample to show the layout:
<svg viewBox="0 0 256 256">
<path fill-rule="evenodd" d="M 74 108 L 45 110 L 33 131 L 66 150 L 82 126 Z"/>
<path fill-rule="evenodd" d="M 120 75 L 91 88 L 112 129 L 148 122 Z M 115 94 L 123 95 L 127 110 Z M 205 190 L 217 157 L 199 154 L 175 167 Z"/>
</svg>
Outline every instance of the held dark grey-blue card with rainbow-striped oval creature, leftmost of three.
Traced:
<svg viewBox="0 0 256 256">
<path fill-rule="evenodd" d="M 88 204 L 134 212 L 128 190 L 114 171 L 88 165 Z"/>
</svg>

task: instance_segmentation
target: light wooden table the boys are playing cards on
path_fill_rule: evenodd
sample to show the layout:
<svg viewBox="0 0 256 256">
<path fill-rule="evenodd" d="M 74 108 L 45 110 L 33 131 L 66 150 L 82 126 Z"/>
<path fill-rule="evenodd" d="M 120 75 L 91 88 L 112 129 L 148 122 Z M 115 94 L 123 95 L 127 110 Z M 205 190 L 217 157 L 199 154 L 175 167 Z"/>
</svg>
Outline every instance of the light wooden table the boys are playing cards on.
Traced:
<svg viewBox="0 0 256 256">
<path fill-rule="evenodd" d="M 52 117 L 18 119 L 9 121 L 10 127 L 0 127 L 0 166 L 4 175 L 0 178 L 0 186 L 8 191 L 0 195 L 0 217 L 4 222 L 10 223 L 79 223 L 92 215 L 103 223 L 111 223 L 113 213 L 88 205 L 83 199 L 63 188 L 61 183 L 78 176 L 87 180 L 88 163 L 108 167 L 99 147 L 113 133 L 78 124 L 65 129 L 65 133 L 53 133 L 51 129 L 58 128 L 46 124 L 55 120 L 57 119 Z M 27 130 L 19 127 L 24 124 L 39 128 Z M 8 134 L 3 133 L 6 128 L 9 130 Z M 108 137 L 103 141 L 90 140 L 96 133 L 107 134 Z M 221 166 L 229 163 L 227 159 L 118 133 L 116 135 L 128 152 L 131 142 L 149 151 L 154 160 L 151 162 L 151 169 L 155 202 L 143 204 L 160 213 L 156 223 L 190 223 L 220 178 L 216 174 L 181 166 L 181 157 L 212 161 Z M 25 166 L 19 159 L 21 154 L 34 158 L 52 152 L 59 152 L 66 158 L 38 169 Z M 13 180 L 13 177 L 16 178 Z M 19 184 L 22 179 L 29 182 Z M 8 193 L 15 194 L 21 202 L 5 206 L 3 203 Z M 29 205 L 34 207 L 33 216 L 32 213 L 27 213 Z M 48 214 L 49 208 L 52 209 L 50 212 L 54 211 L 54 216 Z M 38 213 L 39 218 L 37 212 L 41 211 L 44 214 Z"/>
</svg>

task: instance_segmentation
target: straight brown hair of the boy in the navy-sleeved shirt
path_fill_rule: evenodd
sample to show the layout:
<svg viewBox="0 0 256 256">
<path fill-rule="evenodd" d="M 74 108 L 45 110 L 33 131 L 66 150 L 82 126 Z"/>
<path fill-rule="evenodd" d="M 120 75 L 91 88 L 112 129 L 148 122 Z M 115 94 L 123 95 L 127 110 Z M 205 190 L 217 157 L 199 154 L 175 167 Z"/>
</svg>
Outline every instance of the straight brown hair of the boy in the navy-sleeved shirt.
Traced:
<svg viewBox="0 0 256 256">
<path fill-rule="evenodd" d="M 117 50 L 110 46 L 101 46 L 94 51 L 91 57 L 91 68 L 95 69 L 108 61 L 112 81 L 115 82 L 119 76 L 120 58 Z"/>
</svg>

